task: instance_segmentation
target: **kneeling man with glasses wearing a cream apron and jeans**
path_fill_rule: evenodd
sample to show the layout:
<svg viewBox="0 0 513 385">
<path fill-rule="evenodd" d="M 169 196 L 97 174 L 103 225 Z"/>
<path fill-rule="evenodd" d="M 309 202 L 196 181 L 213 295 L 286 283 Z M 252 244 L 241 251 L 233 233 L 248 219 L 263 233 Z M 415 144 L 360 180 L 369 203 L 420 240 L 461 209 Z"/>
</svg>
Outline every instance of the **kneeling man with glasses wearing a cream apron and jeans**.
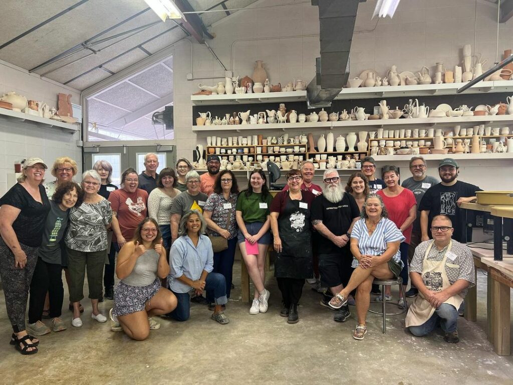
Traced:
<svg viewBox="0 0 513 385">
<path fill-rule="evenodd" d="M 422 337 L 440 323 L 444 340 L 458 343 L 458 309 L 476 276 L 470 249 L 451 239 L 453 231 L 451 220 L 437 215 L 431 222 L 433 239 L 415 249 L 410 279 L 419 295 L 408 309 L 406 327 Z"/>
</svg>

